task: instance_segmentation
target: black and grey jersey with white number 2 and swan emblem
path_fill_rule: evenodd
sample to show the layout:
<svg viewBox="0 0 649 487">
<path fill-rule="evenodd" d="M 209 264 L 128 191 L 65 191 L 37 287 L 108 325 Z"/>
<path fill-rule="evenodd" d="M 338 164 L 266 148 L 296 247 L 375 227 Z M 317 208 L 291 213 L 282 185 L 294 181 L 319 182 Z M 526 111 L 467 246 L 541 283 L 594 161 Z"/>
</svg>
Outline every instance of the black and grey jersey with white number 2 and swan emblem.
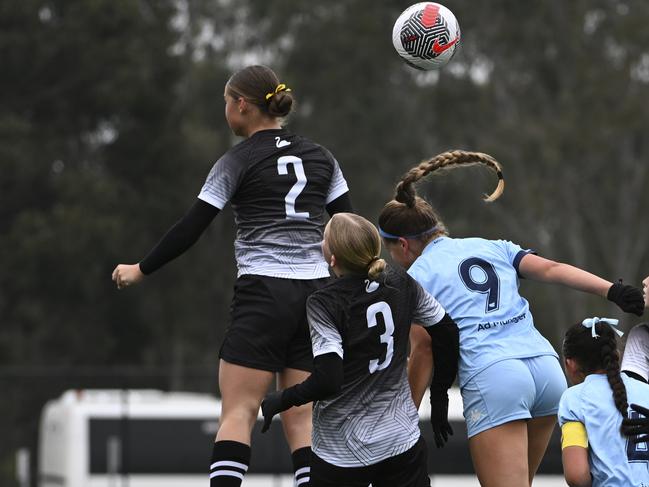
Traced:
<svg viewBox="0 0 649 487">
<path fill-rule="evenodd" d="M 348 191 L 324 147 L 284 129 L 256 132 L 221 157 L 198 197 L 234 211 L 238 275 L 329 276 L 320 250 L 326 205 Z"/>
</svg>

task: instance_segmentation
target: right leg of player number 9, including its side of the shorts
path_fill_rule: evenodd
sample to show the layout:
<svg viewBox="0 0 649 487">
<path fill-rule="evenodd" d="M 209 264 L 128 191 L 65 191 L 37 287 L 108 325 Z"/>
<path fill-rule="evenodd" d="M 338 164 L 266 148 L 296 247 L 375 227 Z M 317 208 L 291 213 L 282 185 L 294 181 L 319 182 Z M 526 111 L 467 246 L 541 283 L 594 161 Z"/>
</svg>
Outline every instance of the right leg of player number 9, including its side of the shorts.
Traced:
<svg viewBox="0 0 649 487">
<path fill-rule="evenodd" d="M 527 423 L 530 485 L 543 460 L 557 423 L 559 400 L 568 385 L 559 360 L 552 355 L 524 359 L 536 385 L 536 399 Z"/>
</svg>

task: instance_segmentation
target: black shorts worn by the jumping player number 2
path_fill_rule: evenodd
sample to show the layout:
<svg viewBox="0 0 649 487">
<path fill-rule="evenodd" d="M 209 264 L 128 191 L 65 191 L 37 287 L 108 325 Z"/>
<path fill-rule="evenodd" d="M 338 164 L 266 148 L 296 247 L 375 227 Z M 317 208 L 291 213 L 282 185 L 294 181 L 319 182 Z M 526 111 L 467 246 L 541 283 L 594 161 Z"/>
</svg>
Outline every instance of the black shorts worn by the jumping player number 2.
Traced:
<svg viewBox="0 0 649 487">
<path fill-rule="evenodd" d="M 230 325 L 220 357 L 253 369 L 310 372 L 311 336 L 306 299 L 328 281 L 243 275 L 234 285 Z"/>
</svg>

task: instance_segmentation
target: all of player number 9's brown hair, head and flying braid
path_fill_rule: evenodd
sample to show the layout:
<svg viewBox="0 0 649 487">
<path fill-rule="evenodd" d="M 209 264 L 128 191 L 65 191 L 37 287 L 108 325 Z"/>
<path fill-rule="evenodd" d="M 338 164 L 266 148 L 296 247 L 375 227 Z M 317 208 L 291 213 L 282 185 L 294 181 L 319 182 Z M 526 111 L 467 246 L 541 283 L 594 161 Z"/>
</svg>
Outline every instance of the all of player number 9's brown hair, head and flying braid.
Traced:
<svg viewBox="0 0 649 487">
<path fill-rule="evenodd" d="M 483 164 L 498 176 L 498 186 L 485 198 L 496 200 L 505 189 L 502 168 L 489 154 L 453 150 L 422 161 L 408 171 L 397 184 L 394 199 L 389 201 L 379 215 L 379 227 L 384 232 L 398 236 L 417 236 L 427 240 L 435 235 L 448 235 L 444 223 L 433 207 L 417 196 L 415 183 L 435 171 L 450 170 L 458 166 Z M 390 240 L 388 237 L 384 237 Z"/>
</svg>

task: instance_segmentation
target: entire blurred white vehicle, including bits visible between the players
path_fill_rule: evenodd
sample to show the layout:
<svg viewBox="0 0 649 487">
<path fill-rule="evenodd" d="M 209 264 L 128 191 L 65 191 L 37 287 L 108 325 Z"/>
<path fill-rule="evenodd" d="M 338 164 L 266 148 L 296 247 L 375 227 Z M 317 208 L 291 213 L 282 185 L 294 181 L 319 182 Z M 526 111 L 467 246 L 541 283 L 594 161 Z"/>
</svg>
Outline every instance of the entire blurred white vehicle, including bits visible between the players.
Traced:
<svg viewBox="0 0 649 487">
<path fill-rule="evenodd" d="M 38 487 L 207 487 L 220 413 L 221 402 L 208 394 L 67 391 L 43 409 Z M 445 448 L 434 447 L 427 396 L 419 413 L 434 474 L 431 485 L 479 487 L 459 391 L 450 391 L 449 419 L 455 435 Z M 243 487 L 293 487 L 290 453 L 280 424 L 263 435 L 260 424 L 253 431 L 251 468 Z M 558 437 L 553 442 L 545 462 L 547 473 L 554 475 L 537 476 L 535 486 L 565 486 L 557 476 Z"/>
</svg>

